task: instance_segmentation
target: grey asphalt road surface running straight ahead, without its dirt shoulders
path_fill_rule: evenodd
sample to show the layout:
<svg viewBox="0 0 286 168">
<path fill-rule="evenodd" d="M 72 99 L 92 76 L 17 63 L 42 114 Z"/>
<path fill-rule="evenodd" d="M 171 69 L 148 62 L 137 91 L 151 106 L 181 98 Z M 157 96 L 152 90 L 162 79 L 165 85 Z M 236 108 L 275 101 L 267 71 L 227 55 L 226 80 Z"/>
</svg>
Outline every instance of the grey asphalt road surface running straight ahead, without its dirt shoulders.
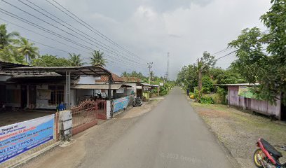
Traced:
<svg viewBox="0 0 286 168">
<path fill-rule="evenodd" d="M 179 87 L 116 138 L 100 155 L 90 144 L 77 167 L 232 167 Z"/>
</svg>

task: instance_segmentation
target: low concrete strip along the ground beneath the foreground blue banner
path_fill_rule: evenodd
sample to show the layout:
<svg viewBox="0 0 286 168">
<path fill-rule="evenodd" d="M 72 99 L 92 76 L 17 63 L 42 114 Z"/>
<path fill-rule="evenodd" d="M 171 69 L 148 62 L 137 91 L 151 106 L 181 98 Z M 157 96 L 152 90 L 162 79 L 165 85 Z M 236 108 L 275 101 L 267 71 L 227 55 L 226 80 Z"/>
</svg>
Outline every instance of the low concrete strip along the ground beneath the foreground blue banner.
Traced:
<svg viewBox="0 0 286 168">
<path fill-rule="evenodd" d="M 43 153 L 46 153 L 46 152 L 52 150 L 56 146 L 59 146 L 61 143 L 62 143 L 62 141 L 57 141 L 57 142 L 55 142 L 55 144 L 50 145 L 46 148 L 43 148 L 41 151 L 37 151 L 36 153 L 33 153 L 32 155 L 29 155 L 29 156 L 27 156 L 27 158 L 23 158 L 22 160 L 20 160 L 20 162 L 16 163 L 15 165 L 12 165 L 8 168 L 20 167 L 21 165 L 24 165 L 26 162 L 29 162 L 30 160 L 42 155 Z"/>
</svg>

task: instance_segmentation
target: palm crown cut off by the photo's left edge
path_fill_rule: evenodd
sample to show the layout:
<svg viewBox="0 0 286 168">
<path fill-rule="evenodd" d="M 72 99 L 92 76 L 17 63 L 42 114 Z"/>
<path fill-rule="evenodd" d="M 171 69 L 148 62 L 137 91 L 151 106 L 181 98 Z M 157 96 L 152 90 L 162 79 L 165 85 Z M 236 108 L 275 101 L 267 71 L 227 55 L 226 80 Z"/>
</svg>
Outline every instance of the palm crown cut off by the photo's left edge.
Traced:
<svg viewBox="0 0 286 168">
<path fill-rule="evenodd" d="M 8 33 L 6 30 L 6 25 L 0 25 L 0 49 L 4 49 L 10 43 L 14 43 L 16 40 L 13 37 L 18 37 L 20 34 L 16 31 Z"/>
</svg>

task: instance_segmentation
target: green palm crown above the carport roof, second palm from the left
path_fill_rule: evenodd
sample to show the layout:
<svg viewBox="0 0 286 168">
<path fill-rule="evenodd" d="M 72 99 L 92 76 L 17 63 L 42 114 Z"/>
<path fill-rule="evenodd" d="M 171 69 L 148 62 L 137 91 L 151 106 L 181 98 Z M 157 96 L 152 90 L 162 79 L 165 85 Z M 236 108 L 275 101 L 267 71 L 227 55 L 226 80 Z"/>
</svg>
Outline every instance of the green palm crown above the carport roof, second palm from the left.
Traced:
<svg viewBox="0 0 286 168">
<path fill-rule="evenodd" d="M 25 57 L 26 62 L 31 62 L 39 55 L 39 48 L 35 47 L 34 43 L 29 43 L 26 38 L 21 37 L 19 45 L 18 52 Z"/>
</svg>

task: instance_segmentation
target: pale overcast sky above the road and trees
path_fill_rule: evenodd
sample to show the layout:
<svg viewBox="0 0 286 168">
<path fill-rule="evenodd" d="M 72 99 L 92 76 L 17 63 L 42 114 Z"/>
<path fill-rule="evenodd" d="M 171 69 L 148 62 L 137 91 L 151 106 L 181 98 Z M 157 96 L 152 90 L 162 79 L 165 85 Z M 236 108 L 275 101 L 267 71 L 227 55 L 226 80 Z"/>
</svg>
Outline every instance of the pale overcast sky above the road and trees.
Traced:
<svg viewBox="0 0 286 168">
<path fill-rule="evenodd" d="M 45 1 L 34 0 L 34 3 L 52 11 L 74 27 L 84 29 L 79 23 L 67 18 L 66 15 Z M 61 0 L 60 3 L 109 38 L 135 52 L 142 59 L 154 62 L 154 71 L 157 75 L 163 76 L 167 71 L 167 52 L 170 52 L 170 75 L 172 78 L 175 78 L 177 71 L 182 66 L 196 62 L 196 58 L 200 57 L 203 51 L 215 52 L 226 48 L 227 43 L 236 38 L 242 29 L 255 26 L 265 29 L 259 21 L 259 17 L 270 7 L 268 0 Z M 13 13 L 22 14 L 15 8 L 4 5 L 3 2 L 0 2 L 0 5 L 1 8 Z M 34 11 L 29 10 L 29 12 Z M 41 16 L 41 18 L 44 17 Z M 17 20 L 11 19 L 11 21 L 22 24 Z M 36 20 L 33 21 L 36 22 Z M 37 23 L 43 25 L 42 22 L 37 21 Z M 71 50 L 64 45 L 57 45 L 54 41 L 39 38 L 39 36 L 18 27 L 10 25 L 8 28 L 20 31 L 22 36 L 48 45 L 55 45 L 64 50 Z M 110 45 L 103 38 L 86 29 L 85 31 L 90 36 Z M 81 41 L 81 43 L 84 42 Z M 62 55 L 62 52 L 57 50 L 41 45 L 39 47 L 41 53 Z M 111 47 L 116 48 L 114 45 Z M 117 48 L 117 50 L 121 49 Z M 80 51 L 71 50 L 71 52 Z M 88 57 L 85 53 L 83 55 Z M 135 57 L 130 56 L 130 59 L 135 59 Z M 218 65 L 225 68 L 233 59 L 234 57 L 227 57 L 220 60 Z M 128 65 L 120 66 L 120 68 L 109 66 L 109 68 L 116 72 L 135 69 Z M 145 69 L 136 67 L 135 70 L 147 73 L 147 67 Z"/>
</svg>

